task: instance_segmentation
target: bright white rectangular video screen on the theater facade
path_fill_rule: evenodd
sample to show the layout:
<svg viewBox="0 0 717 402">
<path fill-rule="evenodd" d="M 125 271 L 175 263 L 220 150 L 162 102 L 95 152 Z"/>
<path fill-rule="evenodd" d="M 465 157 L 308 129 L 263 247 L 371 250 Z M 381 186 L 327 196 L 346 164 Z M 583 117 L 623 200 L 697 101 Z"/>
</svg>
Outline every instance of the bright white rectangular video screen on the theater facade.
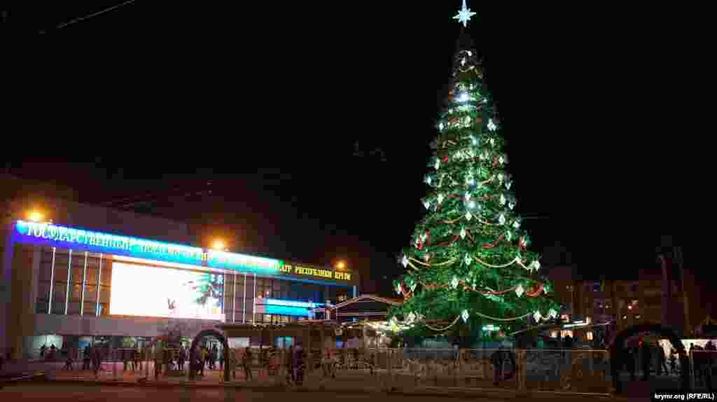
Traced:
<svg viewBox="0 0 717 402">
<path fill-rule="evenodd" d="M 223 321 L 223 290 L 222 274 L 115 262 L 110 314 Z"/>
</svg>

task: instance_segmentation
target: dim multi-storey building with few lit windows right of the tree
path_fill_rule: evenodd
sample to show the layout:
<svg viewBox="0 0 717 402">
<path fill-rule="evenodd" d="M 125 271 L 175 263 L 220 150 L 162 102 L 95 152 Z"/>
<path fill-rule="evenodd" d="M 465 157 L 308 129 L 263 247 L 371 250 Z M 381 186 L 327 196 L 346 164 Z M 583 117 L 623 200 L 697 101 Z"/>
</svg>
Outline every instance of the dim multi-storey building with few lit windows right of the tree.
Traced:
<svg viewBox="0 0 717 402">
<path fill-rule="evenodd" d="M 552 330 L 553 337 L 571 335 L 589 342 L 602 332 L 609 340 L 646 322 L 659 322 L 688 337 L 711 313 L 710 298 L 701 297 L 706 295 L 706 284 L 700 284 L 690 270 L 675 267 L 669 253 L 660 256 L 655 266 L 638 269 L 634 275 L 623 272 L 621 278 L 581 277 L 569 267 L 551 268 L 549 277 L 566 307 L 566 320 L 584 324 Z"/>
</svg>

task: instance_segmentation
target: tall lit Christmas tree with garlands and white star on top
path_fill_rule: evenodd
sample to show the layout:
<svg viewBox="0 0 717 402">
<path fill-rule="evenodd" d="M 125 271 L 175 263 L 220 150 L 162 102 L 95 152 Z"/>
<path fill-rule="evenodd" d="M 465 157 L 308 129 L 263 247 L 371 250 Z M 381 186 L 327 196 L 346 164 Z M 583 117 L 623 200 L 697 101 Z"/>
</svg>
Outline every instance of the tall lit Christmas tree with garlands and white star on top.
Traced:
<svg viewBox="0 0 717 402">
<path fill-rule="evenodd" d="M 465 28 L 474 14 L 463 0 L 454 18 Z M 492 324 L 507 334 L 555 319 L 559 305 L 551 300 L 538 255 L 528 249 L 500 124 L 477 53 L 469 46 L 464 29 L 424 178 L 427 214 L 399 256 L 407 272 L 394 287 L 404 304 L 392 312 L 392 320 L 435 332 L 456 324 Z"/>
</svg>

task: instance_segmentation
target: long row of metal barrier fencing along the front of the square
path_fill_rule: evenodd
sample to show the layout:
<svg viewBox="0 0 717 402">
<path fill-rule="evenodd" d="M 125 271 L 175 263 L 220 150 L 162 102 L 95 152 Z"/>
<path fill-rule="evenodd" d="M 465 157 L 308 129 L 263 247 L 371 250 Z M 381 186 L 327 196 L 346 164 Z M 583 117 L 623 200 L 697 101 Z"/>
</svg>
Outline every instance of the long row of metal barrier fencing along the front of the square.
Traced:
<svg viewBox="0 0 717 402">
<path fill-rule="evenodd" d="M 244 360 L 245 348 L 229 349 L 230 381 L 265 383 L 291 382 L 288 348 L 251 348 L 252 359 Z M 98 355 L 85 359 L 85 350 L 69 351 L 69 363 L 54 363 L 74 373 L 65 378 L 96 378 L 110 381 L 186 380 L 189 378 L 189 356 L 179 361 L 179 350 L 163 349 L 158 355 L 151 348 L 98 348 Z M 185 353 L 188 353 L 185 350 Z M 420 387 L 440 388 L 508 388 L 526 391 L 562 391 L 573 393 L 608 393 L 612 388 L 609 351 L 590 349 L 424 349 L 424 348 L 324 348 L 305 350 L 305 382 L 325 388 L 362 386 L 379 389 Z M 98 358 L 98 359 L 95 359 Z M 717 352 L 691 350 L 689 353 L 690 388 L 711 386 L 717 375 Z M 184 363 L 184 364 L 181 364 Z M 219 360 L 217 360 L 219 363 Z M 246 363 L 246 364 L 245 364 Z M 621 362 L 624 363 L 624 362 Z M 202 363 L 204 364 L 204 362 Z M 634 362 L 640 373 L 640 361 Z M 652 363 L 651 363 L 652 364 Z M 662 381 L 680 381 L 676 370 L 652 370 Z M 212 375 L 198 376 L 197 381 L 223 381 L 217 364 Z M 204 366 L 206 368 L 206 365 Z M 247 373 L 247 370 L 250 373 Z M 621 378 L 630 378 L 625 366 Z M 219 374 L 217 374 L 219 373 Z M 294 373 L 296 374 L 296 373 Z M 644 373 L 643 373 L 644 374 Z M 297 378 L 294 378 L 297 380 Z M 627 380 L 624 380 L 627 381 Z"/>
</svg>

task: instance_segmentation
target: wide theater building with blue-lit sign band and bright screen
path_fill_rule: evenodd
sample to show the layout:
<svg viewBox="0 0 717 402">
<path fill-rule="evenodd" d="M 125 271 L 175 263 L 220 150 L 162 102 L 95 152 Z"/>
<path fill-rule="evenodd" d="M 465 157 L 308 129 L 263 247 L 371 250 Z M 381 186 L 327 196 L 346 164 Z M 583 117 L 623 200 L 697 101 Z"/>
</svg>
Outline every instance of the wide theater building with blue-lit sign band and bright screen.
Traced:
<svg viewBox="0 0 717 402">
<path fill-rule="evenodd" d="M 184 224 L 50 208 L 53 222 L 13 218 L 0 231 L 0 348 L 14 358 L 38 358 L 42 345 L 135 347 L 176 328 L 189 338 L 219 324 L 308 320 L 359 292 L 353 272 L 181 244 Z"/>
</svg>

